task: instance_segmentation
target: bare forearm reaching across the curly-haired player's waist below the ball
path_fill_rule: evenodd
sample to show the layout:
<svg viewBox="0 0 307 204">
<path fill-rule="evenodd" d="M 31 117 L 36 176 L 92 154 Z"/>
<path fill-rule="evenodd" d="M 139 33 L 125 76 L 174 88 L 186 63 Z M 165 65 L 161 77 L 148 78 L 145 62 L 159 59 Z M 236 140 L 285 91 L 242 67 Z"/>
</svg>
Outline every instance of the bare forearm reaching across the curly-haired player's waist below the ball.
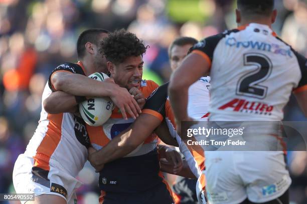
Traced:
<svg viewBox="0 0 307 204">
<path fill-rule="evenodd" d="M 106 146 L 99 151 L 89 152 L 89 161 L 96 168 L 127 155 L 139 146 L 160 123 L 159 118 L 141 113 L 129 128 L 114 137 Z"/>
</svg>

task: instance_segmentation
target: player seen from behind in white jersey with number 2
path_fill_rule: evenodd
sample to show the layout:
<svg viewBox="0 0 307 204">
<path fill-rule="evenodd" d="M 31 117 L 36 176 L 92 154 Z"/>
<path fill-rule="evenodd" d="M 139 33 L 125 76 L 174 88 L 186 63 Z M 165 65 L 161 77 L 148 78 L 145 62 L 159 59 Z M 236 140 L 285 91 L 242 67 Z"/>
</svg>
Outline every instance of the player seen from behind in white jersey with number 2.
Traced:
<svg viewBox="0 0 307 204">
<path fill-rule="evenodd" d="M 209 71 L 211 121 L 280 121 L 291 91 L 307 114 L 307 61 L 271 29 L 274 0 L 238 0 L 237 6 L 239 27 L 194 45 L 173 74 L 169 91 L 177 125 L 191 120 L 189 86 Z M 205 173 L 212 203 L 289 203 L 282 151 L 206 151 Z"/>
</svg>

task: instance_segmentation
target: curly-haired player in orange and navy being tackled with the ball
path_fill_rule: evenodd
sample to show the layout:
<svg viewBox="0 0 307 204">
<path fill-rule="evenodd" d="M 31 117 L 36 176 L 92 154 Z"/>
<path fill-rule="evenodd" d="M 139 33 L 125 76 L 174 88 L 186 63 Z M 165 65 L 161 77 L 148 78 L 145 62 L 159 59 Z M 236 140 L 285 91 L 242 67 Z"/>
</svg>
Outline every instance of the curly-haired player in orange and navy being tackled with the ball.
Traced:
<svg viewBox="0 0 307 204">
<path fill-rule="evenodd" d="M 147 47 L 135 34 L 124 29 L 109 33 L 101 42 L 101 53 L 107 60 L 110 77 L 121 87 L 128 90 L 134 88 L 135 91 L 141 91 L 145 97 L 158 87 L 154 81 L 142 79 L 142 57 Z M 104 149 L 107 143 L 129 127 L 134 119 L 128 115 L 126 120 L 115 107 L 111 117 L 102 126 L 86 125 L 91 145 L 97 150 Z M 105 164 L 99 171 L 100 203 L 174 202 L 172 191 L 160 172 L 157 135 L 151 132 L 146 136 L 145 141 L 135 151 Z"/>
</svg>

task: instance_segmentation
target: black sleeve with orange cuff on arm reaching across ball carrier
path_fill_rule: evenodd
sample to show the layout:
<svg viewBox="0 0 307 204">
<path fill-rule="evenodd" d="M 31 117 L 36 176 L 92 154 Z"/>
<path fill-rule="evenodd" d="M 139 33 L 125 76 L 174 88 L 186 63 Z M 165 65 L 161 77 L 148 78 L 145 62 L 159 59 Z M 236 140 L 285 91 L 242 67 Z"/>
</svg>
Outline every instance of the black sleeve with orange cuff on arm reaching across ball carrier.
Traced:
<svg viewBox="0 0 307 204">
<path fill-rule="evenodd" d="M 159 118 L 161 121 L 164 119 L 165 103 L 168 98 L 169 82 L 159 86 L 147 97 L 143 113 L 147 113 Z"/>
</svg>

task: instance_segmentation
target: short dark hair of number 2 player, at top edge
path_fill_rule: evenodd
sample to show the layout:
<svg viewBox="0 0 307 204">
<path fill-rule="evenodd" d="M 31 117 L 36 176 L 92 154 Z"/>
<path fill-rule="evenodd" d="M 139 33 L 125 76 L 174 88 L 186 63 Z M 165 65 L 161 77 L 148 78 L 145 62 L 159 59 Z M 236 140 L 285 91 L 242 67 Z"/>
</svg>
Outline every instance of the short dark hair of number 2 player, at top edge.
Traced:
<svg viewBox="0 0 307 204">
<path fill-rule="evenodd" d="M 243 15 L 269 15 L 274 9 L 274 0 L 237 0 Z"/>
</svg>

